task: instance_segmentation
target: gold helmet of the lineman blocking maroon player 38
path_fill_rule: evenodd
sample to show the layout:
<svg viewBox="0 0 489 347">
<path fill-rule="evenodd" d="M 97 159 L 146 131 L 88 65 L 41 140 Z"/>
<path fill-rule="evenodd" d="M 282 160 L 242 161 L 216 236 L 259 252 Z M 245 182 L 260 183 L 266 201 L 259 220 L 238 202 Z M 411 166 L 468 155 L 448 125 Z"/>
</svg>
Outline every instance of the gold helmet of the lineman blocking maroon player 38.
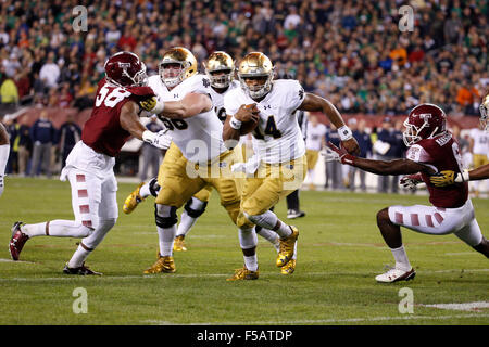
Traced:
<svg viewBox="0 0 489 347">
<path fill-rule="evenodd" d="M 180 69 L 176 74 L 168 66 L 179 64 Z M 197 59 L 192 52 L 184 47 L 174 47 L 163 54 L 159 66 L 160 78 L 166 87 L 179 85 L 184 79 L 197 74 Z"/>
</svg>

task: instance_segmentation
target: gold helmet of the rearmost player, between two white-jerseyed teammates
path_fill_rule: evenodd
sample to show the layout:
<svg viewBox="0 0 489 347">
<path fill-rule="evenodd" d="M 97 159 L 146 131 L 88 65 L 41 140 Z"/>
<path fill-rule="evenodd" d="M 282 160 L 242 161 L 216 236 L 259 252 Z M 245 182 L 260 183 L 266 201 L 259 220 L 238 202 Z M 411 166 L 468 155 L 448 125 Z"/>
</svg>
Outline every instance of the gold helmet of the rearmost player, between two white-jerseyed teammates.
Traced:
<svg viewBox="0 0 489 347">
<path fill-rule="evenodd" d="M 209 55 L 208 60 L 203 63 L 203 66 L 205 68 L 205 74 L 211 80 L 212 87 L 229 87 L 235 73 L 235 62 L 233 62 L 229 54 L 223 51 L 216 51 Z"/>
</svg>

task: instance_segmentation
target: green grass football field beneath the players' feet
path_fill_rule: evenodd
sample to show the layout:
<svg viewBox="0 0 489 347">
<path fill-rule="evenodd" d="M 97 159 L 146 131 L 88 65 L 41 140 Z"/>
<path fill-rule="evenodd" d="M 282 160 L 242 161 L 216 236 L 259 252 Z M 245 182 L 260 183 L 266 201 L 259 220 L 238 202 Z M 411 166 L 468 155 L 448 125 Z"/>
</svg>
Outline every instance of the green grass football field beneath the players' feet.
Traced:
<svg viewBox="0 0 489 347">
<path fill-rule="evenodd" d="M 135 184 L 120 183 L 120 208 Z M 488 236 L 489 201 L 473 200 Z M 70 184 L 7 178 L 0 198 L 0 324 L 489 324 L 489 309 L 449 310 L 429 304 L 489 303 L 488 260 L 454 235 L 403 232 L 417 275 L 378 284 L 393 264 L 376 227 L 376 213 L 392 204 L 426 204 L 427 196 L 302 192 L 308 214 L 300 230 L 297 270 L 285 277 L 275 250 L 259 237 L 260 279 L 226 282 L 242 266 L 238 233 L 213 192 L 208 211 L 176 253 L 177 272 L 143 275 L 158 252 L 153 202 L 124 215 L 87 260 L 101 278 L 61 273 L 75 239 L 36 237 L 21 260 L 10 261 L 16 220 L 73 219 Z M 276 208 L 286 219 L 285 202 Z M 88 312 L 75 314 L 73 291 L 87 291 Z M 413 292 L 414 312 L 400 313 L 399 291 Z"/>
</svg>

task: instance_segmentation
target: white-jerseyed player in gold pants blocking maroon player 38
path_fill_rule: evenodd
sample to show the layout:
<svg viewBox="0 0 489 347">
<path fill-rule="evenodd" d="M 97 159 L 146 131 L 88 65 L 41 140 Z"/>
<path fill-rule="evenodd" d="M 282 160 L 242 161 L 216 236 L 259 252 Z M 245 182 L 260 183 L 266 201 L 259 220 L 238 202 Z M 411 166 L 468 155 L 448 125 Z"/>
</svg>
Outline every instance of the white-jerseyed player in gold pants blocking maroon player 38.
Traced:
<svg viewBox="0 0 489 347">
<path fill-rule="evenodd" d="M 141 106 L 159 115 L 171 130 L 173 143 L 158 177 L 161 189 L 155 200 L 155 219 L 160 252 L 156 262 L 145 273 L 175 272 L 176 210 L 210 184 L 218 192 L 221 204 L 233 222 L 238 224 L 238 220 L 244 220 L 239 222 L 239 241 L 244 264 L 256 271 L 256 275 L 247 279 L 258 279 L 258 261 L 253 254 L 256 233 L 253 224 L 240 215 L 240 192 L 230 172 L 237 158 L 235 152 L 224 145 L 223 124 L 210 98 L 211 83 L 205 75 L 197 74 L 197 61 L 185 48 L 165 52 L 160 66 L 161 88 L 150 81 L 159 98 L 141 103 Z M 168 94 L 174 101 L 165 101 Z M 239 114 L 250 117 L 251 112 L 241 107 Z"/>
</svg>

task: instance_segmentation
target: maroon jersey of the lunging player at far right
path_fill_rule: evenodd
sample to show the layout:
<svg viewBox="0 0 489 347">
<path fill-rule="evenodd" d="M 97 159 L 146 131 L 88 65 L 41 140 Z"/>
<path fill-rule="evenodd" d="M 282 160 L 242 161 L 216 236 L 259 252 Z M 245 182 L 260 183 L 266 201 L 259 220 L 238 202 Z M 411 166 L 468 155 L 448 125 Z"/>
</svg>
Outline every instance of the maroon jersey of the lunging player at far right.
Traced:
<svg viewBox="0 0 489 347">
<path fill-rule="evenodd" d="M 438 172 L 443 170 L 462 171 L 462 156 L 459 143 L 450 132 L 416 142 L 409 149 L 406 158 L 430 165 Z M 422 174 L 422 177 L 429 191 L 429 202 L 436 207 L 461 207 L 468 198 L 467 182 L 440 188 L 435 187 L 429 181 L 428 175 Z"/>
</svg>

